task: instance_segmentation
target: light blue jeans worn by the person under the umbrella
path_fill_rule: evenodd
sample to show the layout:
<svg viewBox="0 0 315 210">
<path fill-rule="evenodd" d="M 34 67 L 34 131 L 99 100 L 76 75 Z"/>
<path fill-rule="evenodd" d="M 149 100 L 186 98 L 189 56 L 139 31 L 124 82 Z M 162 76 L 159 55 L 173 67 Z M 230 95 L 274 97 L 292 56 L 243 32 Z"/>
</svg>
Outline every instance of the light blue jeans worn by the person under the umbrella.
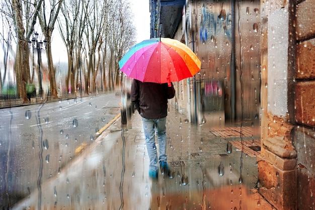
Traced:
<svg viewBox="0 0 315 210">
<path fill-rule="evenodd" d="M 143 132 L 147 153 L 150 159 L 150 169 L 158 169 L 160 161 L 167 161 L 166 155 L 166 117 L 161 119 L 146 119 L 142 117 Z M 155 132 L 159 142 L 159 162 L 157 162 L 157 151 L 155 145 Z"/>
</svg>

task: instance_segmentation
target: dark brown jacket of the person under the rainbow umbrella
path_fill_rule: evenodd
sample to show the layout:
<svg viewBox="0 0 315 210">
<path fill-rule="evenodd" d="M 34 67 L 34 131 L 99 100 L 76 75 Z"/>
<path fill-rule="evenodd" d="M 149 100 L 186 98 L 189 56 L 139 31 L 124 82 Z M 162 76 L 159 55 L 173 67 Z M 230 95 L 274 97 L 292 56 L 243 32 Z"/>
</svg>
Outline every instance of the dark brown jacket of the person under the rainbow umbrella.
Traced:
<svg viewBox="0 0 315 210">
<path fill-rule="evenodd" d="M 147 83 L 133 80 L 131 102 L 140 115 L 147 119 L 160 119 L 168 115 L 168 99 L 174 98 L 175 89 L 167 83 Z"/>
</svg>

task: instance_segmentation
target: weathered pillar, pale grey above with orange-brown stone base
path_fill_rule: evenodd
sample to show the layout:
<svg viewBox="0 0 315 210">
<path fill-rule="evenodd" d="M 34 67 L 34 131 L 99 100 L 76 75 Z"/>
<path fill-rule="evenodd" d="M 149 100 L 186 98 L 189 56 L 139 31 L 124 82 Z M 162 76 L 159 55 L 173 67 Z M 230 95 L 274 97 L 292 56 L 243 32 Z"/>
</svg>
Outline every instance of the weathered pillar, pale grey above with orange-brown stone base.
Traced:
<svg viewBox="0 0 315 210">
<path fill-rule="evenodd" d="M 288 117 L 289 4 L 261 1 L 262 87 L 259 192 L 277 209 L 297 208 L 296 151 Z M 267 37 L 267 38 L 266 38 Z M 265 46 L 265 47 L 264 47 Z M 290 180 L 290 181 L 288 181 Z"/>
</svg>

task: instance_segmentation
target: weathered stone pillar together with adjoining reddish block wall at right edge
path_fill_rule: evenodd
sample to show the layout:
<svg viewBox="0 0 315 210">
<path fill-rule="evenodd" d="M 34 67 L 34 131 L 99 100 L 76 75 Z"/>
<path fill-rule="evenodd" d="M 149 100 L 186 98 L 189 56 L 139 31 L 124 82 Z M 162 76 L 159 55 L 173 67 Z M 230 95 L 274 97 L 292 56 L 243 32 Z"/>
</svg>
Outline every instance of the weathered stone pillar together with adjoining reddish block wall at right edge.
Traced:
<svg viewBox="0 0 315 210">
<path fill-rule="evenodd" d="M 268 94 L 262 92 L 261 97 L 262 102 L 268 97 L 268 105 L 262 104 L 260 193 L 279 210 L 315 209 L 315 4 L 313 0 L 272 0 L 262 8 L 268 17 L 268 52 L 262 54 L 262 60 L 268 60 Z M 287 25 L 279 26 L 278 20 L 288 21 Z M 288 33 L 277 34 L 280 27 Z M 279 38 L 287 39 L 287 55 L 279 53 L 280 63 L 271 67 L 273 50 L 283 49 Z M 279 73 L 285 83 L 274 88 Z M 287 104 L 279 106 L 281 92 Z"/>
</svg>

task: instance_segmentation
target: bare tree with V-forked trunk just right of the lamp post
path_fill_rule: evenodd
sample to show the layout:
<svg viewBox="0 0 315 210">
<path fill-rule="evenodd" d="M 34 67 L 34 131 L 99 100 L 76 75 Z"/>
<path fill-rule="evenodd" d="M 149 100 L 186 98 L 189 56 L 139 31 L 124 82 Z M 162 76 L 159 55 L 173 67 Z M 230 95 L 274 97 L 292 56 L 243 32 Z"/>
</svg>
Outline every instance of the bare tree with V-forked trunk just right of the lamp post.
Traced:
<svg viewBox="0 0 315 210">
<path fill-rule="evenodd" d="M 42 8 L 38 13 L 38 20 L 41 26 L 42 33 L 44 34 L 47 45 L 46 45 L 46 55 L 48 63 L 48 75 L 50 81 L 50 94 L 53 98 L 57 98 L 57 86 L 55 78 L 55 68 L 53 66 L 52 53 L 51 53 L 51 34 L 55 27 L 55 22 L 57 20 L 58 13 L 63 0 L 49 0 L 50 8 L 46 8 L 46 1 L 43 1 Z M 46 15 L 49 15 L 49 18 L 46 18 Z"/>
</svg>

